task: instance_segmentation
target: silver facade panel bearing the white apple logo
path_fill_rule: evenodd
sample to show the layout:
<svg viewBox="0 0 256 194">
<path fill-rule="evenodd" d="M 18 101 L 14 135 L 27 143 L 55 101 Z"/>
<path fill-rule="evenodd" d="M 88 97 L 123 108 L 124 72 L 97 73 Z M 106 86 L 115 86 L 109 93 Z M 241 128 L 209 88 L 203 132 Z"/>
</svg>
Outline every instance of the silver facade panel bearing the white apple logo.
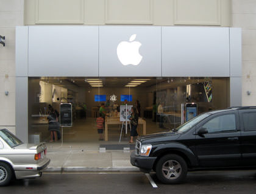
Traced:
<svg viewBox="0 0 256 194">
<path fill-rule="evenodd" d="M 161 76 L 161 27 L 99 27 L 99 76 Z"/>
</svg>

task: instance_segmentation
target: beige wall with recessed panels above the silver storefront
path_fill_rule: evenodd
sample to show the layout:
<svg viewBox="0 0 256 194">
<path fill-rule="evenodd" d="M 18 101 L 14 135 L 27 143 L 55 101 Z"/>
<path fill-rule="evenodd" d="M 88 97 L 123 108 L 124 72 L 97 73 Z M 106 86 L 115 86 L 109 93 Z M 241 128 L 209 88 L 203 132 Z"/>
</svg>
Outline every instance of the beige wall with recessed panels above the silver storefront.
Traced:
<svg viewBox="0 0 256 194">
<path fill-rule="evenodd" d="M 24 0 L 25 24 L 230 26 L 232 0 Z"/>
</svg>

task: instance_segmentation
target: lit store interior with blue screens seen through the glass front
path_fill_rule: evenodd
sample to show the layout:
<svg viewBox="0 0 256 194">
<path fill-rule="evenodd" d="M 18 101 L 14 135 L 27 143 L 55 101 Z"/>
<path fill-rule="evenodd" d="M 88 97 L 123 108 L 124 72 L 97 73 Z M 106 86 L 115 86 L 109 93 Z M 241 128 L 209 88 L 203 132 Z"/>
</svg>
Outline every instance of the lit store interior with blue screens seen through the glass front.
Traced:
<svg viewBox="0 0 256 194">
<path fill-rule="evenodd" d="M 49 141 L 49 105 L 60 111 L 60 103 L 72 104 L 73 123 L 63 127 L 63 142 L 98 143 L 96 117 L 103 103 L 109 124 L 104 144 L 127 143 L 129 125 L 126 134 L 126 126 L 122 130 L 123 123 L 118 123 L 116 108 L 124 105 L 124 100 L 127 105 L 140 103 L 141 136 L 177 128 L 182 122 L 182 105 L 184 111 L 188 105 L 196 105 L 193 116 L 229 107 L 229 85 L 229 78 L 219 77 L 29 77 L 29 142 Z M 157 113 L 160 103 L 162 120 Z M 183 119 L 186 117 L 184 112 Z"/>
</svg>

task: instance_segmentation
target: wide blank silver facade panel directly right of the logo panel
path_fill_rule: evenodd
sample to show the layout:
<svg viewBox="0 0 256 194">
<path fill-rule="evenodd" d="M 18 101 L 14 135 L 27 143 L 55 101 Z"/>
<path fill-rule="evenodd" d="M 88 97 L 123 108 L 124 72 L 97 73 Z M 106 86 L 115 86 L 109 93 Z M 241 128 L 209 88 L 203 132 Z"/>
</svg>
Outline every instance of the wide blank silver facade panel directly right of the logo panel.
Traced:
<svg viewBox="0 0 256 194">
<path fill-rule="evenodd" d="M 229 28 L 162 27 L 163 77 L 229 77 Z"/>
</svg>

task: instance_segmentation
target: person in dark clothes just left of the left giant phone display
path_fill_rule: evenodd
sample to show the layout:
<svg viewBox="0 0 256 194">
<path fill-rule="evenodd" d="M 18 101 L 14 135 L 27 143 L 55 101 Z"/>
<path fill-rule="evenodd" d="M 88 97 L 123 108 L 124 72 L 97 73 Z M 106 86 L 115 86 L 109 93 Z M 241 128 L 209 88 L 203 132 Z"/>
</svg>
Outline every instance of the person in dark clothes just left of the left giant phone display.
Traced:
<svg viewBox="0 0 256 194">
<path fill-rule="evenodd" d="M 51 107 L 49 110 L 50 110 L 50 113 L 47 119 L 49 120 L 48 130 L 51 132 L 50 142 L 53 142 L 54 140 L 55 142 L 57 142 L 58 140 L 57 133 L 59 133 L 60 131 L 60 124 L 58 122 L 57 115 L 54 113 L 54 109 Z"/>
</svg>

